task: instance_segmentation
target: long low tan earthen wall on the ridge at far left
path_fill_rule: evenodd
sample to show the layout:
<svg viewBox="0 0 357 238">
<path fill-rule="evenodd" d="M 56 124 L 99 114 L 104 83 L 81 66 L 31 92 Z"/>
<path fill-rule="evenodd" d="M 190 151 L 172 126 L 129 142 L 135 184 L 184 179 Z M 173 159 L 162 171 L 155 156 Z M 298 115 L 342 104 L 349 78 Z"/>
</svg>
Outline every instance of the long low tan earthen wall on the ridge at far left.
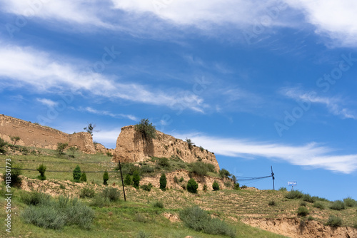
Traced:
<svg viewBox="0 0 357 238">
<path fill-rule="evenodd" d="M 16 145 L 56 150 L 58 143 L 69 143 L 69 146 L 74 145 L 83 152 L 96 153 L 89 133 L 67 134 L 36 123 L 0 115 L 0 138 L 12 143 L 11 137 L 14 136 L 20 138 Z"/>
</svg>

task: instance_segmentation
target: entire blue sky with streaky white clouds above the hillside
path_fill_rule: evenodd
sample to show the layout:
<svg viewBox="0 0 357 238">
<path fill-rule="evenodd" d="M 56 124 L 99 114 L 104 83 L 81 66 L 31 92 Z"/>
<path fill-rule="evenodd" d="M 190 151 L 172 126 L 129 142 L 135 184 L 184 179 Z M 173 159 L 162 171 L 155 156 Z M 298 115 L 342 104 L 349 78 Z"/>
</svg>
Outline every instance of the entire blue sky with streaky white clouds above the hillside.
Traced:
<svg viewBox="0 0 357 238">
<path fill-rule="evenodd" d="M 353 0 L 0 0 L 0 113 L 158 130 L 236 176 L 357 199 Z M 271 180 L 247 184 L 271 189 Z"/>
</svg>

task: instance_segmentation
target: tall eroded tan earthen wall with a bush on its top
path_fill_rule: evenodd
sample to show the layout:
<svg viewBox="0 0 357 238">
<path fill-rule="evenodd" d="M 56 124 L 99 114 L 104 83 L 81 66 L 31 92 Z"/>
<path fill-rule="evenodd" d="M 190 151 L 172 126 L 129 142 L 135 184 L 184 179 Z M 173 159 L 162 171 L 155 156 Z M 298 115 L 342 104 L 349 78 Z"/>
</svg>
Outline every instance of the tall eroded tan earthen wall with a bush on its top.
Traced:
<svg viewBox="0 0 357 238">
<path fill-rule="evenodd" d="M 190 149 L 183 140 L 158 130 L 156 130 L 156 139 L 146 140 L 141 133 L 134 130 L 134 125 L 121 128 L 121 133 L 116 140 L 114 161 L 141 162 L 147 160 L 149 156 L 168 158 L 178 156 L 184 162 L 211 163 L 219 170 L 216 156 L 208 150 L 195 146 Z"/>
</svg>

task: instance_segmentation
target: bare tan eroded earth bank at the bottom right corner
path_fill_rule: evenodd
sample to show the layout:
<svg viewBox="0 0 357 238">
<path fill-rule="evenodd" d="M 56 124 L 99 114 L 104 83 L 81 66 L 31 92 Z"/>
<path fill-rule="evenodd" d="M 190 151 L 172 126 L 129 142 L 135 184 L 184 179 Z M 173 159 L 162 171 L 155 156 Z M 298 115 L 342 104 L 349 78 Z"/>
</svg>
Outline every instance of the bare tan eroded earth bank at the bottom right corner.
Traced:
<svg viewBox="0 0 357 238">
<path fill-rule="evenodd" d="M 283 234 L 291 238 L 352 238 L 357 237 L 357 229 L 352 227 L 328 227 L 318 221 L 301 221 L 298 218 L 243 219 L 242 222 L 269 232 Z"/>
</svg>

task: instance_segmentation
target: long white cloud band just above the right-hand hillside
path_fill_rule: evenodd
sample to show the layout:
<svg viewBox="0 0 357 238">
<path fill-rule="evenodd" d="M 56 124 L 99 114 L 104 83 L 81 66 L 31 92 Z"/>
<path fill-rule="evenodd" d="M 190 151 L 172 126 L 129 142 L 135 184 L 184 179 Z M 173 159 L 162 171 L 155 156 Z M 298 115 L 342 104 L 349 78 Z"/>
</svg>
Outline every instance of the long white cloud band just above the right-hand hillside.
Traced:
<svg viewBox="0 0 357 238">
<path fill-rule="evenodd" d="M 176 138 L 190 138 L 216 155 L 256 159 L 267 157 L 289 162 L 293 165 L 322 168 L 333 172 L 349 174 L 357 170 L 357 155 L 333 155 L 333 148 L 316 143 L 307 145 L 284 145 L 278 143 L 240 140 L 236 138 L 217 138 L 201 133 L 174 135 Z"/>
</svg>

